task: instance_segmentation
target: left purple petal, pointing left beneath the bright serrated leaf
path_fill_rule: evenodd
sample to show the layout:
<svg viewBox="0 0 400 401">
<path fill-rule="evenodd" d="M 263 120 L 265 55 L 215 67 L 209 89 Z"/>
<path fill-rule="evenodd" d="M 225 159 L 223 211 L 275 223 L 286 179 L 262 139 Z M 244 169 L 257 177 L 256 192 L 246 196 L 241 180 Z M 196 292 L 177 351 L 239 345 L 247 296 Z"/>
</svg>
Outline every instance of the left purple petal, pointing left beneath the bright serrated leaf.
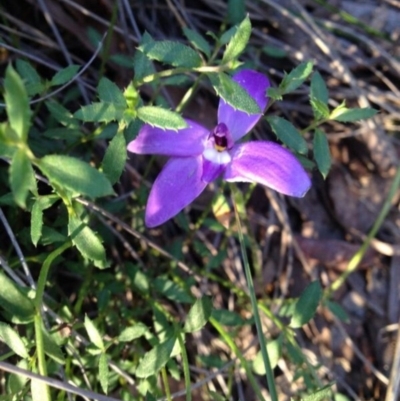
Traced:
<svg viewBox="0 0 400 401">
<path fill-rule="evenodd" d="M 203 126 L 185 120 L 187 128 L 178 131 L 163 130 L 145 124 L 136 139 L 128 144 L 128 150 L 139 154 L 167 156 L 197 156 L 204 149 L 204 141 L 210 134 Z"/>
</svg>

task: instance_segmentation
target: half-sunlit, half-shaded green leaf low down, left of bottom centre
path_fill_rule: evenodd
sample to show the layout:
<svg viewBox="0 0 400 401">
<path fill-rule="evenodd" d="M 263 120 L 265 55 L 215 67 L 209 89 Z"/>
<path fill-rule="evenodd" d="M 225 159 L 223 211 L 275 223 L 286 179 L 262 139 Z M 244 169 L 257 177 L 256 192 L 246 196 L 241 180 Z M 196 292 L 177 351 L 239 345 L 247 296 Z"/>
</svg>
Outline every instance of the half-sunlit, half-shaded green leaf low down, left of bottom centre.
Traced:
<svg viewBox="0 0 400 401">
<path fill-rule="evenodd" d="M 176 338 L 172 336 L 163 343 L 155 346 L 143 356 L 136 369 L 136 376 L 146 378 L 155 375 L 170 359 Z"/>
</svg>

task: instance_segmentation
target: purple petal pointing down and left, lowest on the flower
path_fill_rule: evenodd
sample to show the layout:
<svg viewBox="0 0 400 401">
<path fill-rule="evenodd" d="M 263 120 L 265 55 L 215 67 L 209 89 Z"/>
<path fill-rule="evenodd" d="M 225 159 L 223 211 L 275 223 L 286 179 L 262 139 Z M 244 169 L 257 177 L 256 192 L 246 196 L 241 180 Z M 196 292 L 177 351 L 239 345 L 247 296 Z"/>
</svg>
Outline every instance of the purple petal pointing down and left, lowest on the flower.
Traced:
<svg viewBox="0 0 400 401">
<path fill-rule="evenodd" d="M 197 198 L 207 185 L 201 180 L 202 172 L 202 156 L 170 159 L 151 188 L 146 226 L 159 226 Z"/>
</svg>

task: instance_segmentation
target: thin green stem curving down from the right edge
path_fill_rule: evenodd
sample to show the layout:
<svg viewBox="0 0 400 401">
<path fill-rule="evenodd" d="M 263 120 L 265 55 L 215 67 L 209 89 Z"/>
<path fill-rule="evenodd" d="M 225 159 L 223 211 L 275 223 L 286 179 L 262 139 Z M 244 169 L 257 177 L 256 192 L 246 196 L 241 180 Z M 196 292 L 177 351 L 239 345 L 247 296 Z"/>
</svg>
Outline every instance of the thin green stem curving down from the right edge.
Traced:
<svg viewBox="0 0 400 401">
<path fill-rule="evenodd" d="M 383 204 L 383 207 L 382 207 L 381 211 L 379 212 L 378 217 L 376 218 L 375 223 L 371 228 L 371 231 L 368 233 L 367 238 L 365 238 L 360 249 L 350 259 L 350 262 L 347 266 L 347 269 L 344 271 L 344 273 L 341 276 L 339 276 L 328 288 L 328 290 L 326 291 L 326 297 L 329 297 L 332 294 L 332 292 L 335 292 L 336 290 L 338 290 L 344 284 L 347 277 L 351 273 L 353 273 L 357 269 L 358 265 L 361 263 L 364 255 L 365 255 L 365 252 L 367 252 L 367 249 L 368 249 L 369 245 L 371 244 L 372 239 L 376 236 L 378 230 L 380 229 L 383 221 L 386 218 L 386 215 L 389 213 L 390 207 L 392 205 L 392 200 L 393 200 L 394 196 L 396 195 L 399 186 L 400 186 L 400 167 L 397 168 L 397 172 L 393 179 L 393 182 L 390 187 L 386 201 Z"/>
</svg>

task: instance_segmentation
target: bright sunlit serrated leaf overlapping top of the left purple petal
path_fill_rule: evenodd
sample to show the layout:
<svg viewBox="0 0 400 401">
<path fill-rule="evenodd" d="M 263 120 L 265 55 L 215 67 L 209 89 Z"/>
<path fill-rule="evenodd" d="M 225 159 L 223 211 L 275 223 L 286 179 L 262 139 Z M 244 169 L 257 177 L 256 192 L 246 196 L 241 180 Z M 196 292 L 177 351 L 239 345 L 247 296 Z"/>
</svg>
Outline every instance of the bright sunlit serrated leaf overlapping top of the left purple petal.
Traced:
<svg viewBox="0 0 400 401">
<path fill-rule="evenodd" d="M 174 111 L 157 106 L 143 106 L 137 109 L 137 116 L 155 127 L 178 130 L 186 128 L 186 121 Z"/>
</svg>

